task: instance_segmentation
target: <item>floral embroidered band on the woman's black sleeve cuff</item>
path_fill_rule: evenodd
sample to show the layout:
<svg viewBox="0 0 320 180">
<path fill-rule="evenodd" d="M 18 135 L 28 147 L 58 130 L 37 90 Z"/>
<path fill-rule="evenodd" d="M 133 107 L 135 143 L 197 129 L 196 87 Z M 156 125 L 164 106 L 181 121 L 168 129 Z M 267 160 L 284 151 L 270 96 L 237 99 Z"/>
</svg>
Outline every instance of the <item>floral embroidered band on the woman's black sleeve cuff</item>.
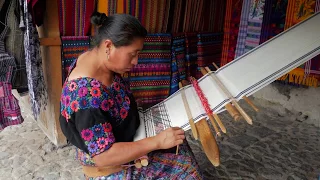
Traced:
<svg viewBox="0 0 320 180">
<path fill-rule="evenodd" d="M 109 149 L 115 142 L 110 123 L 96 124 L 91 128 L 84 129 L 81 131 L 81 137 L 84 139 L 91 156 Z"/>
</svg>

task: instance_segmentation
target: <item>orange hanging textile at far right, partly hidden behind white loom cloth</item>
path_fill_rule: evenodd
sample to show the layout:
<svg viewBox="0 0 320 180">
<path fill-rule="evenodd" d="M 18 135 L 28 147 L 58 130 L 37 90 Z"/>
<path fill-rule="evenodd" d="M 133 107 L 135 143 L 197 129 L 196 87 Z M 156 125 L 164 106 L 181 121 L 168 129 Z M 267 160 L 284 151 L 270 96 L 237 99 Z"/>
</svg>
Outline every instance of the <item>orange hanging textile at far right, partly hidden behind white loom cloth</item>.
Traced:
<svg viewBox="0 0 320 180">
<path fill-rule="evenodd" d="M 296 0 L 289 1 L 284 29 L 307 19 L 319 10 L 318 0 Z M 320 80 L 319 56 L 300 67 L 292 70 L 288 74 L 279 78 L 280 81 L 289 82 L 295 85 L 318 86 Z"/>
</svg>

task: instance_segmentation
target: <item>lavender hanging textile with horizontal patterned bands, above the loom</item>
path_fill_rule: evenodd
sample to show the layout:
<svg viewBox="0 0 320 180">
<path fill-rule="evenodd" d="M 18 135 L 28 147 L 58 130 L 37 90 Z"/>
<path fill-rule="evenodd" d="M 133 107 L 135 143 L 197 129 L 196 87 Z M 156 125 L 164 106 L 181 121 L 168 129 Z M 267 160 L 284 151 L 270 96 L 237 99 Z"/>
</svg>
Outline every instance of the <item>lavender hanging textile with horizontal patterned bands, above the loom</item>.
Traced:
<svg viewBox="0 0 320 180">
<path fill-rule="evenodd" d="M 265 0 L 251 0 L 244 53 L 260 44 Z"/>
</svg>

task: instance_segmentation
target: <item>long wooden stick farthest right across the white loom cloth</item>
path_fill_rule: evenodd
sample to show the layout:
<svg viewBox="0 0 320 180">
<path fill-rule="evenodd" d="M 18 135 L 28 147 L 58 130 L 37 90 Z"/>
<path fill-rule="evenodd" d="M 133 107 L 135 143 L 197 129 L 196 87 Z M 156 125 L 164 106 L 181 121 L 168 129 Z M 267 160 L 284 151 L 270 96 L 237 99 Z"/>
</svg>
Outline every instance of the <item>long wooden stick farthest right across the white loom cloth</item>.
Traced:
<svg viewBox="0 0 320 180">
<path fill-rule="evenodd" d="M 211 70 L 208 67 L 205 67 L 205 69 L 208 72 L 211 72 Z M 247 121 L 247 123 L 252 124 L 252 119 L 250 118 L 250 116 L 240 107 L 240 105 L 237 103 L 237 101 L 234 99 L 234 97 L 231 95 L 228 89 L 222 84 L 222 82 L 215 76 L 214 73 L 210 74 L 210 76 L 219 85 L 221 90 L 228 96 L 228 98 L 231 99 L 232 104 L 237 108 L 237 110 L 240 112 L 243 118 Z"/>
</svg>

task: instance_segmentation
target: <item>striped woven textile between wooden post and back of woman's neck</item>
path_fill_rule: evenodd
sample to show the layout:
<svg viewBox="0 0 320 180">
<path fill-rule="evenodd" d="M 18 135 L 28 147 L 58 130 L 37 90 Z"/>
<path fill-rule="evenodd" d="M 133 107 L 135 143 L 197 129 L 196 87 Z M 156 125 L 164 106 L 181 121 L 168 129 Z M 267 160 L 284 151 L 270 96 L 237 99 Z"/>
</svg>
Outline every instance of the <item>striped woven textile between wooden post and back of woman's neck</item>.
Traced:
<svg viewBox="0 0 320 180">
<path fill-rule="evenodd" d="M 89 36 L 62 36 L 62 82 L 65 81 L 69 68 L 76 58 L 90 46 Z"/>
</svg>

